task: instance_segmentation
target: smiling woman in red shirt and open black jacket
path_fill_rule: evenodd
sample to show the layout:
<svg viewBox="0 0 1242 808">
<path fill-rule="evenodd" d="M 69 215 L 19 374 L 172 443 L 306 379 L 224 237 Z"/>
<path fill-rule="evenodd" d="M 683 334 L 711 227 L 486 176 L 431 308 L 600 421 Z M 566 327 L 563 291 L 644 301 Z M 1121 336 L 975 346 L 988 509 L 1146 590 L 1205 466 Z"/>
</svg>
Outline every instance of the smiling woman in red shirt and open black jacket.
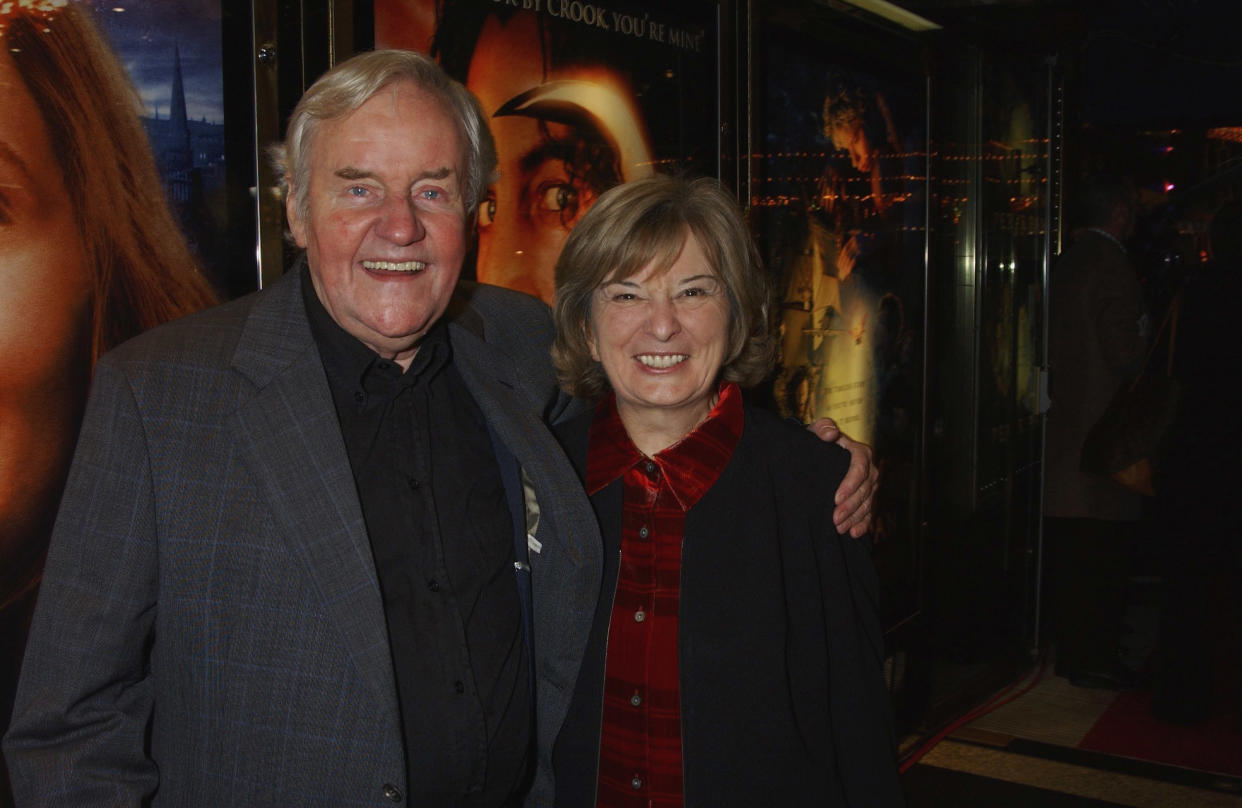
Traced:
<svg viewBox="0 0 1242 808">
<path fill-rule="evenodd" d="M 556 326 L 563 386 L 599 401 L 559 437 L 605 541 L 556 804 L 900 804 L 874 570 L 832 524 L 847 453 L 741 397 L 773 336 L 733 199 L 604 194 Z"/>
</svg>

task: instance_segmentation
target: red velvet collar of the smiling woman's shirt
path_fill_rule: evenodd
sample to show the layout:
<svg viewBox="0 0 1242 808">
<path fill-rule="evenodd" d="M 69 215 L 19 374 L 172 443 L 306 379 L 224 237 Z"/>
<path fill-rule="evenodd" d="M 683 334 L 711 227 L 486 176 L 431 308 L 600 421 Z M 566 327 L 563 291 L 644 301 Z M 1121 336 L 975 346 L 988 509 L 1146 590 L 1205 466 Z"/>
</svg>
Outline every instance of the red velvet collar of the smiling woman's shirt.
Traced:
<svg viewBox="0 0 1242 808">
<path fill-rule="evenodd" d="M 689 510 L 715 484 L 741 438 L 741 390 L 720 385 L 720 397 L 707 418 L 689 434 L 647 458 L 630 439 L 617 413 L 616 396 L 609 393 L 595 408 L 586 453 L 586 493 L 596 494 L 631 468 L 650 459 L 667 480 L 683 511 Z M 646 470 L 646 469 L 645 469 Z M 653 472 L 647 473 L 648 479 Z"/>
</svg>

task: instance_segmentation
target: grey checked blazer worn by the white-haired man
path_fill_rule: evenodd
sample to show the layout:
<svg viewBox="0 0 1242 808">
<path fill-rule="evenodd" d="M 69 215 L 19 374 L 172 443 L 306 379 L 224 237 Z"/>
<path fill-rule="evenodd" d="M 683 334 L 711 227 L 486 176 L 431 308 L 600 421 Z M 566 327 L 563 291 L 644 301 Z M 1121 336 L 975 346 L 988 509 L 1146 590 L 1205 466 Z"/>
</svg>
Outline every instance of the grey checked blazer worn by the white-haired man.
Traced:
<svg viewBox="0 0 1242 808">
<path fill-rule="evenodd" d="M 406 792 L 370 542 L 301 295 L 292 272 L 99 361 L 5 738 L 19 806 Z M 546 307 L 463 284 L 446 316 L 456 366 L 539 500 L 528 804 L 549 804 L 601 542 L 545 427 L 566 406 Z"/>
</svg>

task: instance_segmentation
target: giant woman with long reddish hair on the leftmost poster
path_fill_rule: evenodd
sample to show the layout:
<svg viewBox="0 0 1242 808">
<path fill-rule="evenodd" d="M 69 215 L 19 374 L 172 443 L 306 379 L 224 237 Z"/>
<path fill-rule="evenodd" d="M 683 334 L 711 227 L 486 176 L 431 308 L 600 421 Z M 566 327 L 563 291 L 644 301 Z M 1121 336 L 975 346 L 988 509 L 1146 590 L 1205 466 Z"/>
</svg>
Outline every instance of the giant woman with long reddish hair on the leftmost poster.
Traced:
<svg viewBox="0 0 1242 808">
<path fill-rule="evenodd" d="M 215 299 L 168 210 L 120 63 L 89 10 L 55 5 L 0 6 L 4 726 L 91 367 Z"/>
</svg>

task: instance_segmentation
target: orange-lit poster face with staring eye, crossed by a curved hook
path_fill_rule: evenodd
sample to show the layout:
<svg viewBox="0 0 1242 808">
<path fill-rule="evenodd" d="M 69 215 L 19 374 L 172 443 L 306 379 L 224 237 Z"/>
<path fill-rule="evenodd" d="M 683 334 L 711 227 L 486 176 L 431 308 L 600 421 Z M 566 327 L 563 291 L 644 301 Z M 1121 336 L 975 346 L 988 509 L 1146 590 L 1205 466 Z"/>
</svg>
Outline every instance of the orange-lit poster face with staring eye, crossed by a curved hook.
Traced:
<svg viewBox="0 0 1242 808">
<path fill-rule="evenodd" d="M 504 25 L 488 19 L 466 86 L 489 117 L 501 171 L 479 205 L 478 278 L 550 303 L 556 258 L 595 199 L 566 170 L 575 133 L 563 124 L 540 127 L 522 115 L 491 118 L 507 101 L 544 81 L 539 37 L 534 15 L 514 15 Z"/>
</svg>

